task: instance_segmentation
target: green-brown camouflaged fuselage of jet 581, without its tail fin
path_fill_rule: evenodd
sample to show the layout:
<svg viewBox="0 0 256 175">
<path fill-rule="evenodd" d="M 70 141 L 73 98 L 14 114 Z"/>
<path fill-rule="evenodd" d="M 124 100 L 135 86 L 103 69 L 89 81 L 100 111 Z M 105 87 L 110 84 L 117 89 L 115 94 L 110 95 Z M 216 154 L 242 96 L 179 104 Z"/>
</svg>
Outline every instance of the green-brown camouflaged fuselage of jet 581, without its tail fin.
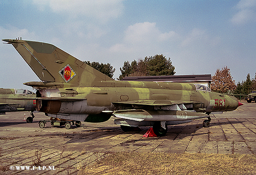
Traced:
<svg viewBox="0 0 256 175">
<path fill-rule="evenodd" d="M 82 121 L 86 121 L 87 118 L 83 114 L 101 114 L 102 111 L 126 109 L 169 111 L 168 108 L 174 104 L 184 104 L 187 110 L 210 113 L 235 110 L 239 105 L 238 100 L 233 96 L 197 90 L 194 84 L 189 83 L 108 81 L 98 82 L 96 87 L 47 89 L 38 92 L 41 98 L 70 99 L 69 101 L 38 99 L 38 111 L 56 114 L 56 117 L 60 118 L 65 118 L 64 114 L 69 114 L 69 117 L 76 115 L 77 119 Z M 71 100 L 72 98 L 74 100 Z M 204 117 L 206 116 L 195 118 Z"/>
</svg>

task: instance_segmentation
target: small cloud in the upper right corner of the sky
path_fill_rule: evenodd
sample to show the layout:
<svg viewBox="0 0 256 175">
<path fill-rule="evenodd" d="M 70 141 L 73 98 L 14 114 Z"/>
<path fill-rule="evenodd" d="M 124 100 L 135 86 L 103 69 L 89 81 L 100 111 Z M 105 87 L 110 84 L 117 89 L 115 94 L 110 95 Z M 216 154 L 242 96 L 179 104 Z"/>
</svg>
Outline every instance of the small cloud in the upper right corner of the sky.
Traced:
<svg viewBox="0 0 256 175">
<path fill-rule="evenodd" d="M 240 0 L 235 8 L 238 12 L 231 19 L 233 24 L 242 25 L 256 21 L 256 0 Z"/>
</svg>

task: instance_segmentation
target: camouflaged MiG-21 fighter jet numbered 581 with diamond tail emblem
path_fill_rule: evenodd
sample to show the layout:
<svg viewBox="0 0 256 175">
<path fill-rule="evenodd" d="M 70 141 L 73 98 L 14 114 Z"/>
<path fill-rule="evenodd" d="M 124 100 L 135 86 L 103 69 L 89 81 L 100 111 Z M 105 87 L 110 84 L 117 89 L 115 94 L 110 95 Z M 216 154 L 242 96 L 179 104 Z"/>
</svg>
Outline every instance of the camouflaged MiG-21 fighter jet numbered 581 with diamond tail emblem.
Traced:
<svg viewBox="0 0 256 175">
<path fill-rule="evenodd" d="M 242 103 L 230 95 L 192 83 L 117 81 L 56 46 L 27 40 L 12 44 L 41 82 L 27 82 L 36 91 L 36 109 L 54 118 L 103 122 L 113 115 L 124 131 L 153 126 L 157 136 L 169 125 L 207 118 L 211 112 L 233 111 Z"/>
</svg>

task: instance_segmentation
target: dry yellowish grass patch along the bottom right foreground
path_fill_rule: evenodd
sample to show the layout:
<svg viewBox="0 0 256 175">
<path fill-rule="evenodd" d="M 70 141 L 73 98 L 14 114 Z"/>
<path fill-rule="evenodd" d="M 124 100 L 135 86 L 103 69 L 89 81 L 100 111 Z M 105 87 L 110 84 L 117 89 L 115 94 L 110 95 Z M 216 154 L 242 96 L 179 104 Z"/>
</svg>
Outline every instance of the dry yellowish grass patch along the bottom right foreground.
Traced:
<svg viewBox="0 0 256 175">
<path fill-rule="evenodd" d="M 256 155 L 117 152 L 79 175 L 253 175 L 255 165 Z"/>
</svg>

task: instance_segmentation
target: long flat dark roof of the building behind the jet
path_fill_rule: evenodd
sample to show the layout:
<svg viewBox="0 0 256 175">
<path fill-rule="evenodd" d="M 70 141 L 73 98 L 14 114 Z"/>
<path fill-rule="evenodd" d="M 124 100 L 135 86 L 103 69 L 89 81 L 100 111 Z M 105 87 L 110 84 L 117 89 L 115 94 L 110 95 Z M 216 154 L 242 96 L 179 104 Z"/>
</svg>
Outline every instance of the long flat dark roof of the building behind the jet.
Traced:
<svg viewBox="0 0 256 175">
<path fill-rule="evenodd" d="M 124 77 L 121 81 L 166 81 L 166 82 L 184 82 L 184 81 L 212 81 L 212 75 L 166 75 L 166 76 L 144 76 L 144 77 Z"/>
</svg>

